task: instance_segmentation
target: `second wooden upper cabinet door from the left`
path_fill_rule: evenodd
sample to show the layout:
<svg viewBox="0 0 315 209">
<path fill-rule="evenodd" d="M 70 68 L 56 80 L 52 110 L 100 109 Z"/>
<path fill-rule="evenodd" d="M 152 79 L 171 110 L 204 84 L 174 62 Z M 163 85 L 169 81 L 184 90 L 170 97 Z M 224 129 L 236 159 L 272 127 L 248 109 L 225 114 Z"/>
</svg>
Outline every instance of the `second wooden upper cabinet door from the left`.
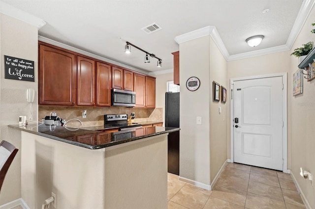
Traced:
<svg viewBox="0 0 315 209">
<path fill-rule="evenodd" d="M 77 98 L 78 105 L 94 106 L 95 104 L 95 61 L 77 57 Z"/>
</svg>

